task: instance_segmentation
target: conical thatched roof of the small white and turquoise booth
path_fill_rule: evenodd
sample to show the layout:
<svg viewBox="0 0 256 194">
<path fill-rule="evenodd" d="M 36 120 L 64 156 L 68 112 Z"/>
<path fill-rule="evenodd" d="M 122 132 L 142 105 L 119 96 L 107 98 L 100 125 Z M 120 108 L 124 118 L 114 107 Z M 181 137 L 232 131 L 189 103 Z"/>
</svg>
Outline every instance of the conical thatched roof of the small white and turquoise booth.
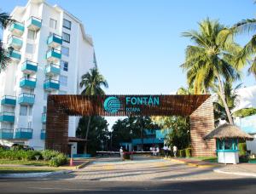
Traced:
<svg viewBox="0 0 256 194">
<path fill-rule="evenodd" d="M 223 125 L 214 128 L 209 134 L 204 137 L 204 140 L 210 139 L 243 139 L 243 140 L 253 140 L 253 136 L 247 134 L 241 130 L 241 128 L 236 125 L 229 123 L 224 123 Z"/>
</svg>

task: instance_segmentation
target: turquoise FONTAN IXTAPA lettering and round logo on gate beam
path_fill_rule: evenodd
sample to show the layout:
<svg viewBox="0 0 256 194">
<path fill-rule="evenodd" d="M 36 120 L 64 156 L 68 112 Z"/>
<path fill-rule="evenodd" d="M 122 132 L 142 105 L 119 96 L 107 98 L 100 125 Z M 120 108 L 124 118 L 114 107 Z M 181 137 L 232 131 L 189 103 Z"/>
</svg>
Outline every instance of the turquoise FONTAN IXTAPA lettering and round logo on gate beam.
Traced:
<svg viewBox="0 0 256 194">
<path fill-rule="evenodd" d="M 159 95 L 108 96 L 103 102 L 104 111 L 110 114 L 139 114 L 143 109 L 155 106 L 160 106 Z"/>
</svg>

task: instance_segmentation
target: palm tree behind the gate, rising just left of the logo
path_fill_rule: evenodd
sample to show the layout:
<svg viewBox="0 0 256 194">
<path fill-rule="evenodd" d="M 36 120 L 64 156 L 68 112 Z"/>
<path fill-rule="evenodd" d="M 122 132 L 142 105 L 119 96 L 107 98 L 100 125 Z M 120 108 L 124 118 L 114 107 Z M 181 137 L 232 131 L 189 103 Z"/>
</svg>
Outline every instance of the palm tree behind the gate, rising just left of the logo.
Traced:
<svg viewBox="0 0 256 194">
<path fill-rule="evenodd" d="M 105 88 L 108 88 L 108 82 L 107 80 L 100 74 L 98 69 L 92 68 L 89 72 L 85 73 L 82 76 L 82 81 L 80 82 L 80 88 L 84 87 L 84 90 L 81 94 L 83 95 L 103 95 L 105 92 L 101 88 L 104 86 Z M 90 128 L 90 120 L 91 117 L 89 117 L 89 121 L 86 128 L 86 134 L 85 134 L 85 145 L 84 145 L 84 152 L 87 153 L 87 139 L 88 139 L 88 133 Z"/>
</svg>

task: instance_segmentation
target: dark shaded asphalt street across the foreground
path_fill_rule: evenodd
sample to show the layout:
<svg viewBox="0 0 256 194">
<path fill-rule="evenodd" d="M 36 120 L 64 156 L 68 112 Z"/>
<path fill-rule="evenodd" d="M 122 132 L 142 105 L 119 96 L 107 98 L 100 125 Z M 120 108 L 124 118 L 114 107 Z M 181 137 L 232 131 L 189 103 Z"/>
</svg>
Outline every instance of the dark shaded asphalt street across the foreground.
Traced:
<svg viewBox="0 0 256 194">
<path fill-rule="evenodd" d="M 0 193 L 256 193 L 256 179 L 176 181 L 1 180 Z"/>
</svg>

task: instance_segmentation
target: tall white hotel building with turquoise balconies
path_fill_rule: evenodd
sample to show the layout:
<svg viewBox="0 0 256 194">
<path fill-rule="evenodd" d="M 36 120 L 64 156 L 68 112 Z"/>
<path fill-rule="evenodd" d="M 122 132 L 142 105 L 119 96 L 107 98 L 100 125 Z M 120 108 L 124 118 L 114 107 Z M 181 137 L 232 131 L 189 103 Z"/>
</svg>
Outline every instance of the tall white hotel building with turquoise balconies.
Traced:
<svg viewBox="0 0 256 194">
<path fill-rule="evenodd" d="M 17 22 L 3 31 L 3 43 L 14 51 L 0 74 L 0 144 L 41 150 L 47 95 L 80 94 L 81 76 L 96 66 L 93 43 L 79 19 L 44 0 L 29 0 L 11 15 Z M 78 122 L 70 117 L 69 137 L 75 137 Z"/>
</svg>

